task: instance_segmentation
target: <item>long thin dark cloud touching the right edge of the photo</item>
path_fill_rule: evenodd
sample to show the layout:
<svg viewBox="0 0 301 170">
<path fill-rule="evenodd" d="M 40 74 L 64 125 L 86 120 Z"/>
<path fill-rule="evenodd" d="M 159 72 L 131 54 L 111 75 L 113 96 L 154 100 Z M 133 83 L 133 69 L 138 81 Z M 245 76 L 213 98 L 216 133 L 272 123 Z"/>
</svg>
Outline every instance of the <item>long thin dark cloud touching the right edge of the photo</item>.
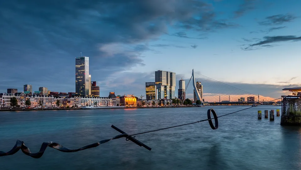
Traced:
<svg viewBox="0 0 301 170">
<path fill-rule="evenodd" d="M 284 42 L 284 41 L 301 41 L 301 36 L 265 36 L 262 41 L 258 43 L 250 44 L 247 47 L 242 47 L 242 50 L 254 50 L 252 47 L 273 47 L 275 42 Z"/>
</svg>

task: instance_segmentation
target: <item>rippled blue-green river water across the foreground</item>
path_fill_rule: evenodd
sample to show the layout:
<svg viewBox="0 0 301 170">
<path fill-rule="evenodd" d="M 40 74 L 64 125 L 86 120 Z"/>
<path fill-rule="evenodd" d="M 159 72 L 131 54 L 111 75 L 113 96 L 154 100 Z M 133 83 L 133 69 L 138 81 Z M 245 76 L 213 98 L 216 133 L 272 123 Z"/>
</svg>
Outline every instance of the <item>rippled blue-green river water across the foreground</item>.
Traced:
<svg viewBox="0 0 301 170">
<path fill-rule="evenodd" d="M 112 124 L 133 134 L 206 119 L 209 108 L 0 112 L 0 150 L 9 151 L 17 139 L 32 152 L 46 141 L 79 148 L 119 134 Z M 212 108 L 223 115 L 246 106 Z M 271 109 L 275 121 L 264 118 Z M 280 126 L 276 109 L 258 106 L 219 118 L 217 130 L 202 122 L 137 135 L 151 151 L 122 138 L 74 153 L 47 148 L 40 159 L 18 151 L 0 157 L 0 169 L 300 169 L 301 129 Z"/>
</svg>

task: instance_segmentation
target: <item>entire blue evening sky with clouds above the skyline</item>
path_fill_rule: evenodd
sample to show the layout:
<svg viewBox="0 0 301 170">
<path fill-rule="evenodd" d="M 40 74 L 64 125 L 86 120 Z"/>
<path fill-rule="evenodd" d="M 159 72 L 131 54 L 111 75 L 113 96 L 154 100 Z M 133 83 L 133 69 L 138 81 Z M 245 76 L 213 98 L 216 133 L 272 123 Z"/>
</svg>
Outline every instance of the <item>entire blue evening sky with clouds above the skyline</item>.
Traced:
<svg viewBox="0 0 301 170">
<path fill-rule="evenodd" d="M 301 86 L 299 0 L 10 0 L 0 2 L 0 92 L 24 84 L 75 92 L 89 57 L 100 96 L 145 96 L 156 70 L 192 69 L 278 98 Z M 210 91 L 204 86 L 204 92 Z M 192 98 L 193 87 L 187 88 Z M 144 97 L 145 98 L 145 97 Z"/>
</svg>

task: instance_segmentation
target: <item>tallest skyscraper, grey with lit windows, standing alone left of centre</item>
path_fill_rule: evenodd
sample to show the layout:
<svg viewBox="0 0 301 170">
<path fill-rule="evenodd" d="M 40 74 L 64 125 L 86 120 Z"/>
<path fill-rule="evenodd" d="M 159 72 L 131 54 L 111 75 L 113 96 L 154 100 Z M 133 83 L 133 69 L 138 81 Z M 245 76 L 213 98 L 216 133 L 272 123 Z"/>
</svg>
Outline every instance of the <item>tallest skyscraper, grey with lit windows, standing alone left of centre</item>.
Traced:
<svg viewBox="0 0 301 170">
<path fill-rule="evenodd" d="M 90 89 L 89 57 L 75 58 L 75 95 L 88 97 Z"/>
</svg>

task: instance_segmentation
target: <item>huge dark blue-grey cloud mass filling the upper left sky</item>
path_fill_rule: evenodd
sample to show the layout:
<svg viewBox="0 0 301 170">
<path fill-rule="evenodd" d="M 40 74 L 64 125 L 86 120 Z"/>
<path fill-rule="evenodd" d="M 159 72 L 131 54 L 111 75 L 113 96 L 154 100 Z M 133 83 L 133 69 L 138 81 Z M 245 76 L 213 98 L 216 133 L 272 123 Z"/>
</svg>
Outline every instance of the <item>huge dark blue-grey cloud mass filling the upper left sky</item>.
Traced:
<svg viewBox="0 0 301 170">
<path fill-rule="evenodd" d="M 106 79 L 144 65 L 142 53 L 150 50 L 145 41 L 170 25 L 210 31 L 237 26 L 195 0 L 1 1 L 0 21 L 0 49 L 10 56 L 2 58 L 2 69 L 11 70 L 11 63 L 18 68 L 3 74 L 0 90 L 33 84 L 34 90 L 74 91 L 80 52 L 90 57 L 92 80 Z"/>
</svg>

